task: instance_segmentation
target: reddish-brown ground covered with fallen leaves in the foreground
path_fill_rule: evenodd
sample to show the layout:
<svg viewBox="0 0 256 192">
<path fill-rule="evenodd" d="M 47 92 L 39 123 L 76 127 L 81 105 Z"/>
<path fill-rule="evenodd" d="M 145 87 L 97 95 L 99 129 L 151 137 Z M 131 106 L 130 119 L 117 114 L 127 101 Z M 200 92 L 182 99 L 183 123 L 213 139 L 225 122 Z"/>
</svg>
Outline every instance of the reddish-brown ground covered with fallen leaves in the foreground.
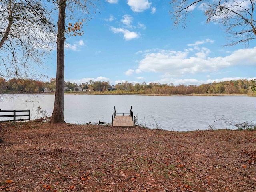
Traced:
<svg viewBox="0 0 256 192">
<path fill-rule="evenodd" d="M 255 192 L 256 131 L 0 125 L 0 191 Z"/>
</svg>

